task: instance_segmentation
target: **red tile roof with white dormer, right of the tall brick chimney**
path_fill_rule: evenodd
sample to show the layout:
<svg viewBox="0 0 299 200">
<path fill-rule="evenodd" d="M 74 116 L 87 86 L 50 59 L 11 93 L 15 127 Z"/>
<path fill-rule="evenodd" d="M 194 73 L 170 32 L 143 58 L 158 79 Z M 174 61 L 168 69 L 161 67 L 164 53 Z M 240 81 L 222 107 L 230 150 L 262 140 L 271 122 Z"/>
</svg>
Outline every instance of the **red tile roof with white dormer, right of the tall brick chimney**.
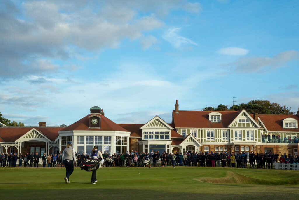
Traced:
<svg viewBox="0 0 299 200">
<path fill-rule="evenodd" d="M 209 121 L 208 114 L 219 112 L 222 114 L 220 123 Z M 176 113 L 173 110 L 173 122 L 175 127 L 190 128 L 226 128 L 241 111 L 185 111 L 180 110 Z"/>
</svg>

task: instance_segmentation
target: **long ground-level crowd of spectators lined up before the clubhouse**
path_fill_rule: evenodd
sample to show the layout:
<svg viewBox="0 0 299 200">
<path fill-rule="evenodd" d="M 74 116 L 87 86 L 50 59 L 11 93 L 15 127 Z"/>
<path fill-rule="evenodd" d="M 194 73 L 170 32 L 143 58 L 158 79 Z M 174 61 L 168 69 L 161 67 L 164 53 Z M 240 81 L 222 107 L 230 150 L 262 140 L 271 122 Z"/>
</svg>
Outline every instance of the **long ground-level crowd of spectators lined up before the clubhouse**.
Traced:
<svg viewBox="0 0 299 200">
<path fill-rule="evenodd" d="M 234 154 L 234 152 L 184 152 L 178 153 L 167 153 L 166 151 L 160 154 L 157 152 L 150 153 L 137 153 L 135 152 L 126 152 L 122 154 L 114 153 L 110 155 L 108 153 L 103 154 L 104 158 L 111 158 L 113 160 L 112 163 L 106 163 L 106 166 L 115 166 L 115 167 L 145 167 L 144 160 L 149 159 L 151 162 L 151 166 L 154 167 L 166 167 L 166 166 L 189 166 L 189 167 L 232 167 L 232 168 L 274 168 L 274 162 L 280 163 L 299 163 L 299 156 L 296 155 L 293 157 L 290 154 L 279 154 L 276 152 L 275 154 L 270 153 L 258 153 L 254 154 L 254 152 L 250 152 L 250 154 L 246 154 L 245 152 Z M 16 167 L 17 160 L 19 160 L 19 167 L 22 165 L 24 167 L 39 167 L 39 154 L 38 153 L 27 153 L 25 155 L 20 154 L 17 156 L 14 154 L 4 154 L 2 153 L 0 156 L 0 164 L 1 167 L 9 166 Z M 76 162 L 75 166 L 79 167 L 80 163 L 84 162 L 87 158 L 89 158 L 89 154 L 77 154 L 76 153 Z M 41 157 L 42 159 L 42 167 L 62 167 L 62 153 L 59 154 L 46 154 L 44 153 Z M 34 163 L 34 165 L 33 165 Z M 248 165 L 249 164 L 249 165 Z"/>
</svg>

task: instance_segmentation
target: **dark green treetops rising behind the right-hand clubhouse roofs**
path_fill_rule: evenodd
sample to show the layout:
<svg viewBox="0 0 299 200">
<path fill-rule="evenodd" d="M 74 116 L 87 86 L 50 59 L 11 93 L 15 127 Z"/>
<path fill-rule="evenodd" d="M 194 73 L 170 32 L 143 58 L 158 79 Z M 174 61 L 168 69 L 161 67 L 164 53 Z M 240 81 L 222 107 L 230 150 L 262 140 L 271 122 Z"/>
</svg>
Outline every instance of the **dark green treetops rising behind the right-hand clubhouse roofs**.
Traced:
<svg viewBox="0 0 299 200">
<path fill-rule="evenodd" d="M 248 113 L 258 114 L 275 114 L 275 115 L 294 115 L 295 112 L 291 112 L 291 107 L 281 106 L 279 103 L 270 102 L 267 100 L 251 100 L 248 103 L 241 103 L 239 105 L 233 105 L 229 109 L 239 111 L 245 109 Z M 226 111 L 228 107 L 219 104 L 217 108 L 205 107 L 203 111 Z"/>
</svg>

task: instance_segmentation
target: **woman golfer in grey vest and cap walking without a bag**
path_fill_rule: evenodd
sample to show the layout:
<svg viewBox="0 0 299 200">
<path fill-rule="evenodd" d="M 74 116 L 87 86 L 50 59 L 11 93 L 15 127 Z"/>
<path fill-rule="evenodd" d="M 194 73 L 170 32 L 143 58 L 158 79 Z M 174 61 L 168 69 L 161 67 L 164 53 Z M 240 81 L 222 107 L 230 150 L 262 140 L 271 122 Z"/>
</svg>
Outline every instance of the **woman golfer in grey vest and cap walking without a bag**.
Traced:
<svg viewBox="0 0 299 200">
<path fill-rule="evenodd" d="M 72 142 L 68 141 L 62 154 L 62 166 L 64 165 L 66 169 L 65 183 L 71 183 L 69 178 L 74 171 L 74 161 L 76 161 L 75 150 L 72 148 Z"/>
</svg>

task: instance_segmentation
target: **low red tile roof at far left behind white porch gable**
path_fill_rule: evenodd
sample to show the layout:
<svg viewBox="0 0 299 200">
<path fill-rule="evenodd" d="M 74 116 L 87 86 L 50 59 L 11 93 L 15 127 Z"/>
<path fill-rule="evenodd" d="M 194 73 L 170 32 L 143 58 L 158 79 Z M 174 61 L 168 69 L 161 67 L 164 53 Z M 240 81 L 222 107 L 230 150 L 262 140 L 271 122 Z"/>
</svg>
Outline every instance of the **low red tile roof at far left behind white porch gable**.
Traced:
<svg viewBox="0 0 299 200">
<path fill-rule="evenodd" d="M 41 132 L 51 141 L 55 141 L 58 137 L 58 131 L 63 129 L 63 127 L 1 127 L 0 137 L 4 142 L 15 142 L 33 128 Z"/>
</svg>

